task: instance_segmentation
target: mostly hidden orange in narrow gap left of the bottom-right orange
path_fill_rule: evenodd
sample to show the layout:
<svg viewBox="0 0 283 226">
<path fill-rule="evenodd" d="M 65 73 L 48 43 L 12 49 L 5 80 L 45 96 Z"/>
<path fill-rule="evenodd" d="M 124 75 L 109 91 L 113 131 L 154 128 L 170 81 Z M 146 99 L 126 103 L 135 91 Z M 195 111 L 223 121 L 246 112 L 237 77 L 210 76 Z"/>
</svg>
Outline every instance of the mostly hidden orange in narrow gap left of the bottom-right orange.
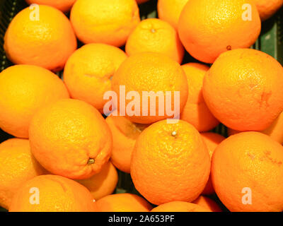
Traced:
<svg viewBox="0 0 283 226">
<path fill-rule="evenodd" d="M 200 133 L 202 136 L 204 143 L 207 145 L 207 149 L 209 151 L 210 159 L 214 153 L 215 148 L 225 140 L 224 136 L 221 136 L 217 133 Z M 205 186 L 204 190 L 202 191 L 204 195 L 214 194 L 214 188 L 212 186 L 212 177 L 209 176 L 207 185 Z"/>
</svg>

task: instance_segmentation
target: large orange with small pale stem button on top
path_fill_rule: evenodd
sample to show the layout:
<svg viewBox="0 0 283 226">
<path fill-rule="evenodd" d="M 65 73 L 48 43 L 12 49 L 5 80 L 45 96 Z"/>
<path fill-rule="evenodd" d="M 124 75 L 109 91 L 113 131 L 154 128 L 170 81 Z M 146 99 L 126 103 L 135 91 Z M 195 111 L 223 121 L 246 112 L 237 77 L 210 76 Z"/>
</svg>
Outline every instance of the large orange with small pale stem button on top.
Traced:
<svg viewBox="0 0 283 226">
<path fill-rule="evenodd" d="M 210 160 L 200 133 L 186 121 L 158 121 L 137 138 L 131 176 L 149 202 L 194 201 L 209 178 Z"/>
</svg>

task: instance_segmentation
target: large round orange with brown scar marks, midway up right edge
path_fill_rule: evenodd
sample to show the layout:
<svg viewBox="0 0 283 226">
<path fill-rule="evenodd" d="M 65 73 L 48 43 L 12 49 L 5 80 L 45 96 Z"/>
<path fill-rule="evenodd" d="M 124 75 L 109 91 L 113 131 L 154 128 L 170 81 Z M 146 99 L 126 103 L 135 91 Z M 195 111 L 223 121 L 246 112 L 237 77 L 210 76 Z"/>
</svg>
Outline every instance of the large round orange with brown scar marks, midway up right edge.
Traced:
<svg viewBox="0 0 283 226">
<path fill-rule="evenodd" d="M 221 54 L 204 76 L 203 95 L 210 111 L 238 131 L 267 129 L 283 110 L 283 68 L 255 49 Z"/>
</svg>

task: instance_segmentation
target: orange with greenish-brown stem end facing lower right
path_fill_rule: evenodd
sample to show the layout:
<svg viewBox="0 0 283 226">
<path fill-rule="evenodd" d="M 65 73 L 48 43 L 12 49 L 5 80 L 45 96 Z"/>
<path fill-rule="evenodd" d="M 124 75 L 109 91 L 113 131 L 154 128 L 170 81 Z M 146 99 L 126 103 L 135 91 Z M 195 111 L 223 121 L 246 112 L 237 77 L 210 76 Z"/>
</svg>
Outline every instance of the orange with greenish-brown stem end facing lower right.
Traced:
<svg viewBox="0 0 283 226">
<path fill-rule="evenodd" d="M 53 174 L 87 179 L 100 172 L 112 150 L 112 136 L 97 109 L 64 99 L 42 107 L 30 124 L 30 147 Z"/>
</svg>

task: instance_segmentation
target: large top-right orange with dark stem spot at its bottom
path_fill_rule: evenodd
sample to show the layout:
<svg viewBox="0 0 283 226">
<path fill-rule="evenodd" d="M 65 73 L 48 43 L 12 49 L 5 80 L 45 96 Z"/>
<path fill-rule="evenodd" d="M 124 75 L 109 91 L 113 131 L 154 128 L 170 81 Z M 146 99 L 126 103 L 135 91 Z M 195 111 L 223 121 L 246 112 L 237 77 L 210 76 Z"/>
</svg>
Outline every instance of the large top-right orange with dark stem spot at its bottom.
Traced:
<svg viewBox="0 0 283 226">
<path fill-rule="evenodd" d="M 251 6 L 251 20 L 243 20 L 244 4 Z M 229 49 L 250 47 L 260 29 L 260 16 L 250 0 L 190 0 L 178 22 L 185 49 L 205 63 L 213 63 Z"/>
</svg>

